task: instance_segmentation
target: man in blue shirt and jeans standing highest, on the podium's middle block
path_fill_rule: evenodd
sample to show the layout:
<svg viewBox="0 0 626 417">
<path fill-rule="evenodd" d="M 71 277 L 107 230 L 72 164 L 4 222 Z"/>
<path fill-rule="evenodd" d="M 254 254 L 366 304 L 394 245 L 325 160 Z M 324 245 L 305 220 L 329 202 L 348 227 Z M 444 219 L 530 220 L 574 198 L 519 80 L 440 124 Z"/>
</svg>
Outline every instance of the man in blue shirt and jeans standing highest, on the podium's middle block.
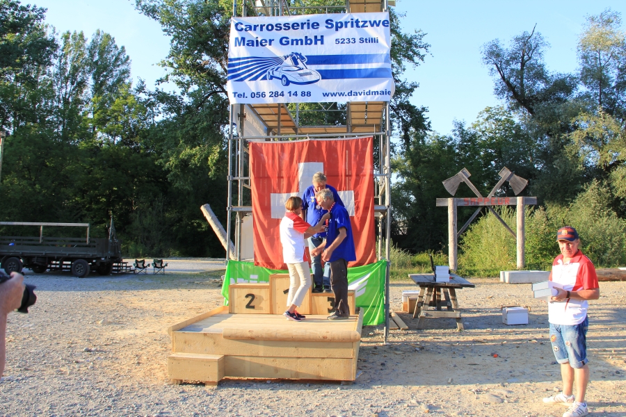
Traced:
<svg viewBox="0 0 626 417">
<path fill-rule="evenodd" d="M 326 184 L 326 175 L 323 172 L 316 172 L 313 175 L 313 185 L 305 190 L 302 195 L 302 214 L 300 215 L 303 220 L 308 224 L 317 224 L 324 214 L 324 209 L 317 204 L 315 199 L 315 193 L 319 190 L 326 188 L 332 192 L 332 197 L 339 206 L 344 206 L 344 202 L 339 198 L 337 190 L 334 187 Z M 326 232 L 323 231 L 318 234 L 314 234 L 308 239 L 309 252 L 311 253 L 311 267 L 313 268 L 313 292 L 330 293 L 330 265 L 326 263 L 324 268 L 321 266 L 321 254 L 313 256 L 313 250 L 321 245 L 324 238 L 326 238 Z"/>
</svg>

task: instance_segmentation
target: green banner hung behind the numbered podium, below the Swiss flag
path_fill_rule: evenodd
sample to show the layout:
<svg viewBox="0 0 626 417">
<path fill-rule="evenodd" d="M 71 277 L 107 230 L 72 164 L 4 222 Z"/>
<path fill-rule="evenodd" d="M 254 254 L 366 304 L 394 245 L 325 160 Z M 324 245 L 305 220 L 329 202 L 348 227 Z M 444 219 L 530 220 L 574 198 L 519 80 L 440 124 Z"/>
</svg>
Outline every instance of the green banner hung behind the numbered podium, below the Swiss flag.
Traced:
<svg viewBox="0 0 626 417">
<path fill-rule="evenodd" d="M 387 261 L 384 259 L 369 265 L 348 268 L 348 289 L 354 290 L 356 306 L 365 309 L 364 326 L 376 326 L 385 322 L 386 272 Z M 228 304 L 230 284 L 269 282 L 270 275 L 287 273 L 287 270 L 263 268 L 251 262 L 229 261 L 222 285 L 224 305 Z"/>
</svg>

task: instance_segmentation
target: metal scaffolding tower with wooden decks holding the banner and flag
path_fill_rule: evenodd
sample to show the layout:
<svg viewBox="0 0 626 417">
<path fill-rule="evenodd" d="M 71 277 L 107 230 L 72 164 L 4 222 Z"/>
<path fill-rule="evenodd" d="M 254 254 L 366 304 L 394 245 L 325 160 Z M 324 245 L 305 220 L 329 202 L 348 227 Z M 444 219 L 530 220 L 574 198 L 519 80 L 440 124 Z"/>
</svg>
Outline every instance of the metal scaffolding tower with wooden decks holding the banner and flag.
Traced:
<svg viewBox="0 0 626 417">
<path fill-rule="evenodd" d="M 283 16 L 298 15 L 312 11 L 317 13 L 372 13 L 387 11 L 393 5 L 390 0 L 346 0 L 345 6 L 289 7 L 285 0 L 243 0 L 238 8 L 233 0 L 233 15 L 237 16 Z M 248 143 L 266 140 L 293 140 L 296 138 L 378 138 L 374 155 L 374 215 L 378 227 L 378 260 L 387 260 L 385 277 L 385 332 L 389 335 L 389 281 L 391 247 L 391 163 L 390 163 L 390 117 L 388 101 L 349 102 L 345 106 L 334 102 L 320 103 L 319 108 L 301 109 L 292 104 L 234 104 L 230 105 L 230 129 L 228 134 L 228 199 L 226 234 L 233 234 L 234 254 L 227 245 L 226 260 L 241 260 L 241 229 L 243 218 L 252 213 L 250 197 L 250 171 Z M 311 112 L 342 112 L 345 124 L 301 124 Z M 376 142 L 376 140 L 375 140 Z M 234 219 L 233 219 L 234 218 Z M 383 256 L 382 250 L 385 248 Z"/>
</svg>

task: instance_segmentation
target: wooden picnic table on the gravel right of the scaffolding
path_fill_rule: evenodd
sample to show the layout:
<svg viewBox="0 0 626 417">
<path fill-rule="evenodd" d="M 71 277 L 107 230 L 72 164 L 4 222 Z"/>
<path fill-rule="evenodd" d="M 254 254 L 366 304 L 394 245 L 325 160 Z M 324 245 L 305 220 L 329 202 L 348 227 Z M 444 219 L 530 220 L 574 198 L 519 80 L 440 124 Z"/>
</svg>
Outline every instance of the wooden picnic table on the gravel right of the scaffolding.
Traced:
<svg viewBox="0 0 626 417">
<path fill-rule="evenodd" d="M 426 318 L 454 318 L 456 328 L 463 330 L 456 288 L 474 288 L 474 284 L 456 274 L 450 274 L 448 282 L 435 282 L 433 274 L 409 274 L 409 278 L 419 285 L 419 295 L 413 311 L 413 318 L 419 318 L 418 329 L 424 328 Z M 429 306 L 435 309 L 429 310 Z M 446 307 L 446 310 L 442 310 L 442 307 Z"/>
</svg>

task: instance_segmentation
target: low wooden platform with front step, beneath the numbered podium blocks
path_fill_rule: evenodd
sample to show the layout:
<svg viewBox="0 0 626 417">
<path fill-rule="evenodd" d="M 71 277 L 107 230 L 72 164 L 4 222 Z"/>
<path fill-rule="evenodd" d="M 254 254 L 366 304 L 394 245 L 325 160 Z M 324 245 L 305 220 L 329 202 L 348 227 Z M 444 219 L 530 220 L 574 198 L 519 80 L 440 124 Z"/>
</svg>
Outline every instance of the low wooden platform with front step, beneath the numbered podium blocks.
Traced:
<svg viewBox="0 0 626 417">
<path fill-rule="evenodd" d="M 224 377 L 330 379 L 356 377 L 363 312 L 349 320 L 307 315 L 229 313 L 223 306 L 168 329 L 174 384 L 214 385 Z"/>
</svg>

